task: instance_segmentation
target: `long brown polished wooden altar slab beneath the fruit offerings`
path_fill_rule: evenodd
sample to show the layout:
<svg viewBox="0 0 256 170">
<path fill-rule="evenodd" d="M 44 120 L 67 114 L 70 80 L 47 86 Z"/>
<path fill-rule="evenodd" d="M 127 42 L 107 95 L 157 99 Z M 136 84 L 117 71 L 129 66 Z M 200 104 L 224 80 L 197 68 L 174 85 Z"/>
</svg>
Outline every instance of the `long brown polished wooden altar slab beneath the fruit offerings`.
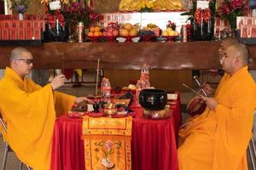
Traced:
<svg viewBox="0 0 256 170">
<path fill-rule="evenodd" d="M 48 42 L 25 46 L 34 57 L 34 68 L 95 69 L 101 59 L 102 69 L 139 70 L 144 62 L 153 69 L 218 69 L 220 42 Z M 0 68 L 9 65 L 9 53 L 15 46 L 0 46 Z M 256 69 L 256 46 L 249 47 Z"/>
</svg>

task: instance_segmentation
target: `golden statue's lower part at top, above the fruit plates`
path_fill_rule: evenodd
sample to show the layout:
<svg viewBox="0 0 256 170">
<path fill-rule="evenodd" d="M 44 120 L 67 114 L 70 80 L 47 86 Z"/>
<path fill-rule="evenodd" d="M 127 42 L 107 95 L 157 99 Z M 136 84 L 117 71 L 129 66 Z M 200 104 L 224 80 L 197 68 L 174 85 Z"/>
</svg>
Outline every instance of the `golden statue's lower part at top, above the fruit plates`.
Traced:
<svg viewBox="0 0 256 170">
<path fill-rule="evenodd" d="M 143 7 L 153 10 L 180 10 L 182 0 L 121 0 L 119 3 L 120 11 L 139 11 Z"/>
</svg>

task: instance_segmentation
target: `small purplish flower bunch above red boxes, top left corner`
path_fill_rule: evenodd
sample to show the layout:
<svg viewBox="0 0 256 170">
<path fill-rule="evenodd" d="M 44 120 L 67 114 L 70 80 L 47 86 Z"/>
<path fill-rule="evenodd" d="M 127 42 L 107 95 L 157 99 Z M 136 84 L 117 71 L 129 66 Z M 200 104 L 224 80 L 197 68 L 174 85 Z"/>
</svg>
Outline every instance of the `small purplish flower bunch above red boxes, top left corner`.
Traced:
<svg viewBox="0 0 256 170">
<path fill-rule="evenodd" d="M 26 13 L 26 9 L 30 3 L 31 0 L 8 0 L 8 5 L 10 8 L 21 14 Z"/>
</svg>

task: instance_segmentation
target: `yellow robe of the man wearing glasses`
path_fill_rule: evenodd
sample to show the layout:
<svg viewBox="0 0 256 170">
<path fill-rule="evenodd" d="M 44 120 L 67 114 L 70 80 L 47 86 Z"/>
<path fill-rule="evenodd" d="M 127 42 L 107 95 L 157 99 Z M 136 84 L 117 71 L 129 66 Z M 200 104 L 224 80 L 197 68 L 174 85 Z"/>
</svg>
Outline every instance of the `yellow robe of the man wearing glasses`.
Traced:
<svg viewBox="0 0 256 170">
<path fill-rule="evenodd" d="M 26 77 L 22 80 L 6 68 L 0 82 L 0 111 L 8 126 L 3 135 L 20 161 L 49 170 L 55 113 L 67 111 L 73 102 L 73 96 L 53 92 L 49 84 L 42 88 Z"/>
</svg>

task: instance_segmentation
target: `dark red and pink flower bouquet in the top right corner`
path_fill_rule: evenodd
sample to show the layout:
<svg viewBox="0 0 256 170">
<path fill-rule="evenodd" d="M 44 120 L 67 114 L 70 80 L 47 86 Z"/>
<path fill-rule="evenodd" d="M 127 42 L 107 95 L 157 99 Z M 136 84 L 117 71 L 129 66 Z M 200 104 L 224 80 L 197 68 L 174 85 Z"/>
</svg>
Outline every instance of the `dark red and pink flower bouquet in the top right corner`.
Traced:
<svg viewBox="0 0 256 170">
<path fill-rule="evenodd" d="M 230 22 L 232 31 L 236 30 L 236 16 L 241 16 L 247 12 L 246 0 L 224 0 L 218 8 L 218 14 L 222 20 Z"/>
</svg>

